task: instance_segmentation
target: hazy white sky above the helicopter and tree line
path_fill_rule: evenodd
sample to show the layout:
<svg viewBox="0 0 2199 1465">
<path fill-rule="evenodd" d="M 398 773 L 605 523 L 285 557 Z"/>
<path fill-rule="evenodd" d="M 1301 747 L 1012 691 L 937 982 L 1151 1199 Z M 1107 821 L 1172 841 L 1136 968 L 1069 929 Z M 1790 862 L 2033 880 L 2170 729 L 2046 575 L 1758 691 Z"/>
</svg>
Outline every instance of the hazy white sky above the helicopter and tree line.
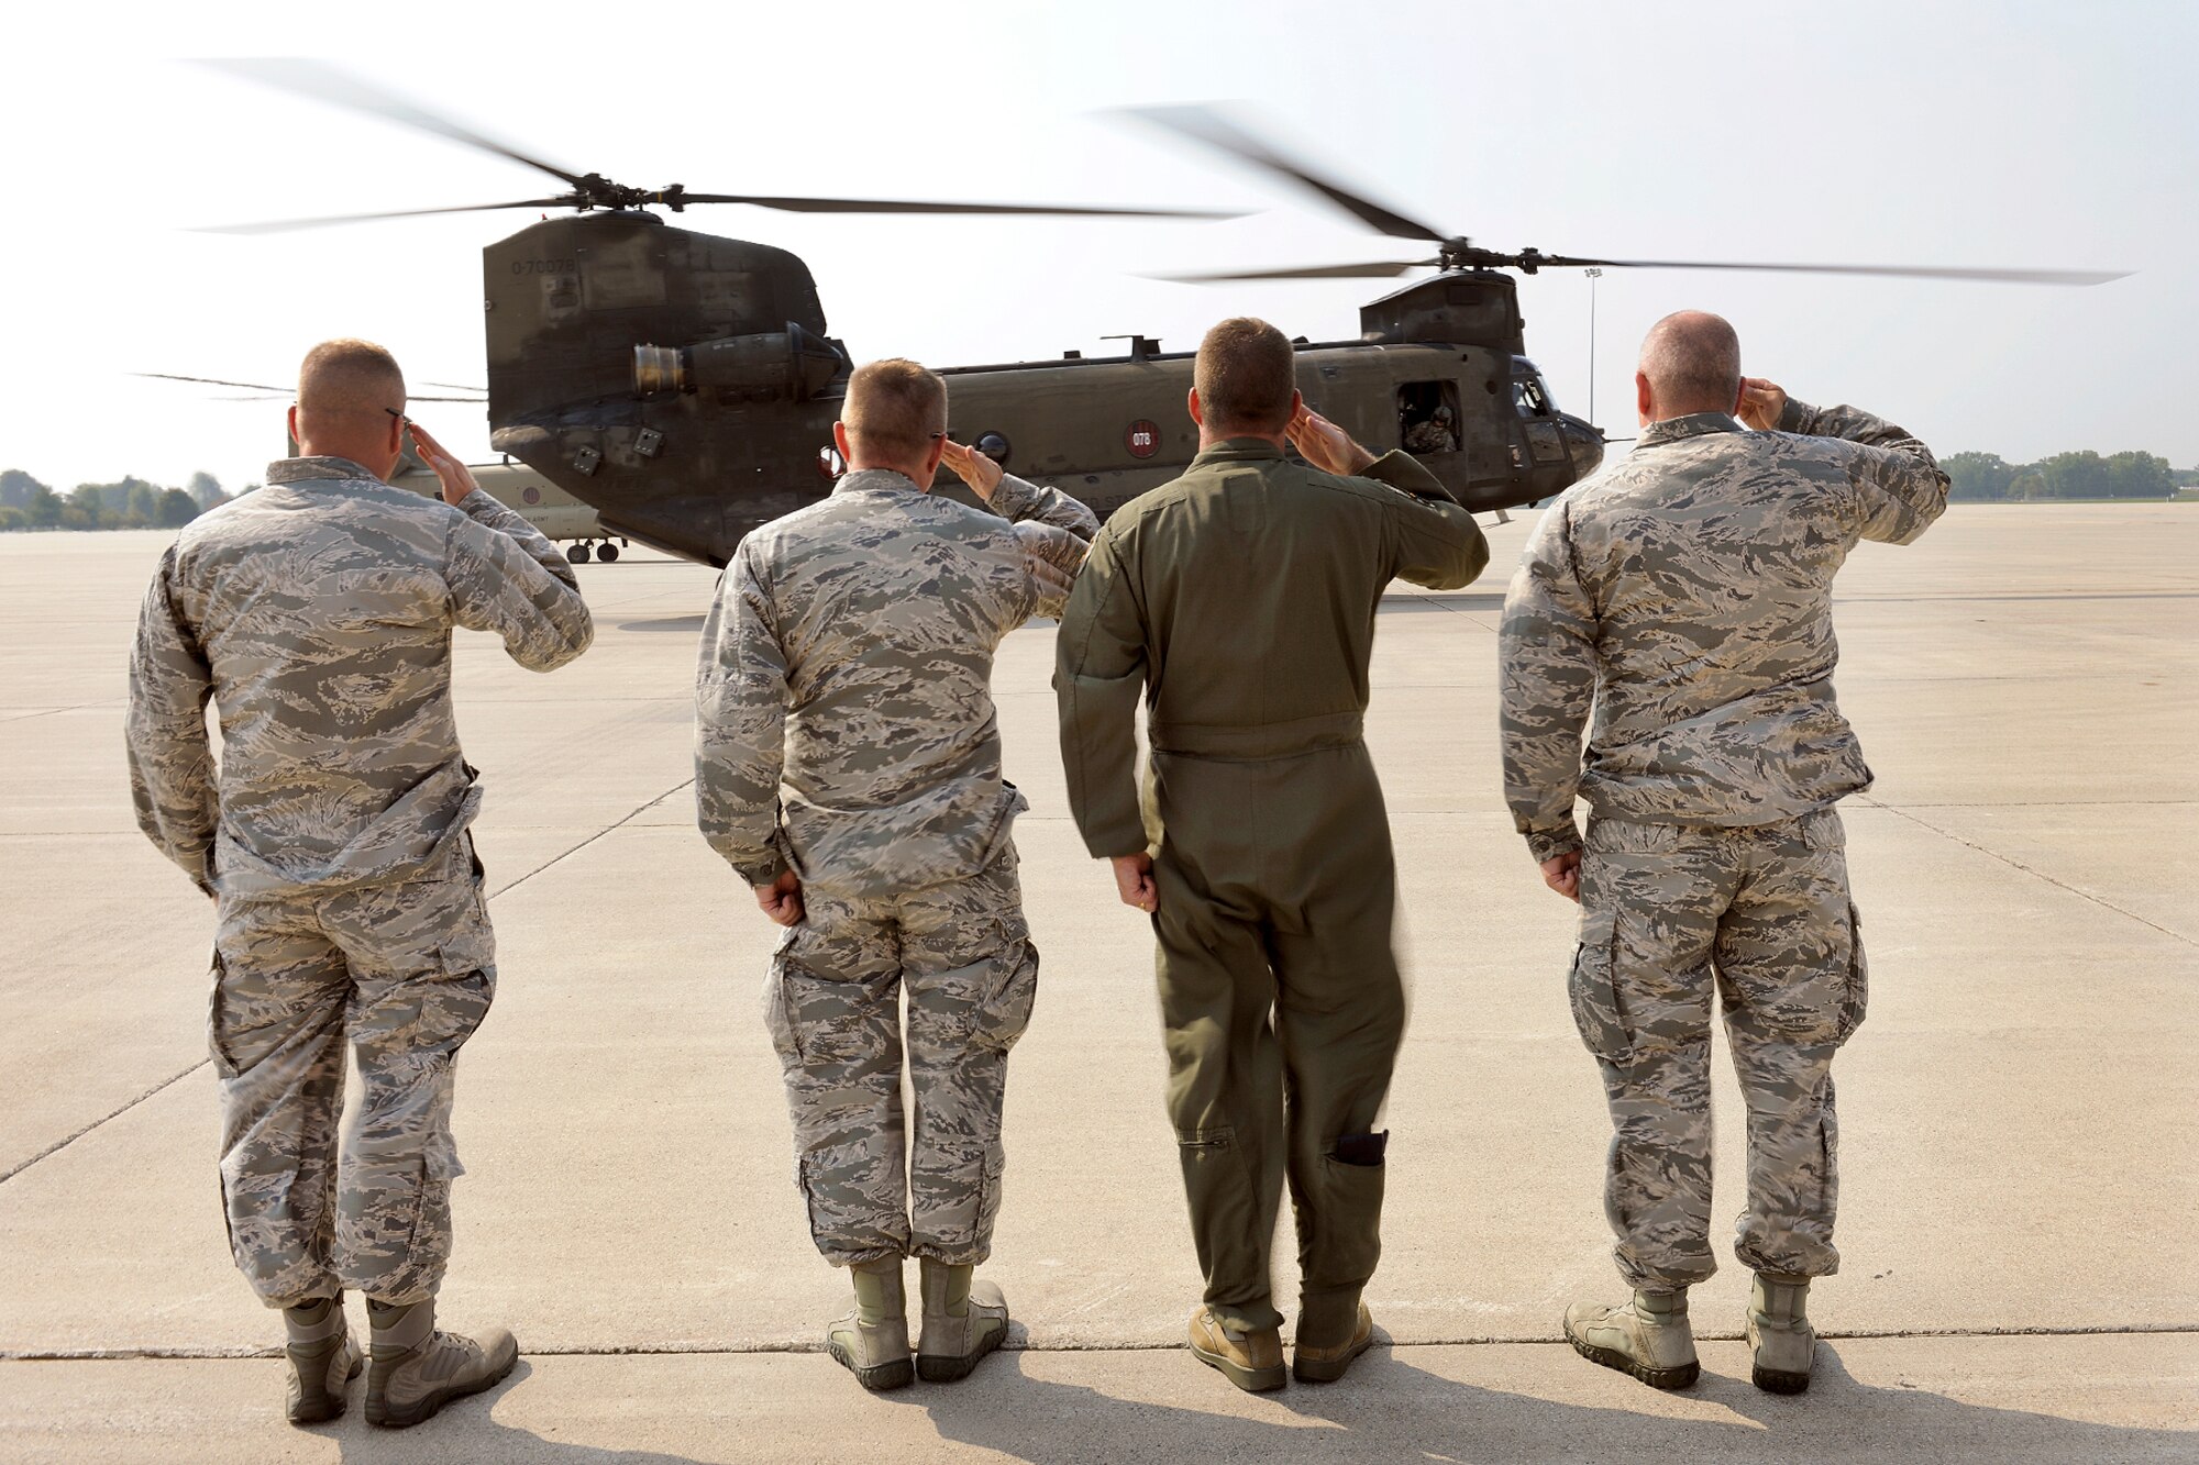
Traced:
<svg viewBox="0 0 2199 1465">
<path fill-rule="evenodd" d="M 530 213 L 235 238 L 194 224 L 530 198 L 519 165 L 180 64 L 314 55 L 576 172 L 756 194 L 1227 205 L 1216 224 L 816 218 L 686 227 L 800 253 L 858 356 L 937 365 L 1190 348 L 1223 315 L 1357 332 L 1379 282 L 1194 288 L 1141 271 L 1410 257 L 1286 185 L 1095 112 L 1242 101 L 1308 161 L 1478 242 L 1616 257 L 2137 271 L 2089 288 L 1612 271 L 1594 416 L 1680 306 L 1746 367 L 1942 453 L 2199 462 L 2199 7 L 578 4 L 81 7 L 11 22 L 0 136 L 0 466 L 62 488 L 281 451 L 281 403 L 128 372 L 292 378 L 363 334 L 479 383 L 479 249 Z M 1590 405 L 1590 284 L 1522 282 L 1528 350 Z M 420 409 L 486 455 L 477 407 Z"/>
</svg>

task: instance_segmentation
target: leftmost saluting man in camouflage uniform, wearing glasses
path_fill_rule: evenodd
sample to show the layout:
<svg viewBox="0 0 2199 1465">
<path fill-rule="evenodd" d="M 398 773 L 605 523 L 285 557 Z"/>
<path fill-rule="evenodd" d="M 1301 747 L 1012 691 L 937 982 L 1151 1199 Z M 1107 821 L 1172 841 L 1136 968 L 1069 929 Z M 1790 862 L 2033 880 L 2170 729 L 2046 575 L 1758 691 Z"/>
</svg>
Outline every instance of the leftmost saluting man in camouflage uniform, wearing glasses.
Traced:
<svg viewBox="0 0 2199 1465">
<path fill-rule="evenodd" d="M 444 502 L 383 482 L 402 407 L 389 352 L 317 345 L 290 407 L 299 458 L 178 535 L 130 658 L 139 825 L 218 908 L 229 1245 L 284 1309 L 299 1423 L 341 1414 L 361 1368 L 343 1287 L 367 1296 L 374 1423 L 418 1423 L 517 1357 L 501 1329 L 435 1331 L 453 1065 L 497 981 L 451 627 L 495 631 L 534 671 L 594 634 L 556 548 L 424 431 Z M 365 1102 L 339 1161 L 345 1036 Z"/>
</svg>

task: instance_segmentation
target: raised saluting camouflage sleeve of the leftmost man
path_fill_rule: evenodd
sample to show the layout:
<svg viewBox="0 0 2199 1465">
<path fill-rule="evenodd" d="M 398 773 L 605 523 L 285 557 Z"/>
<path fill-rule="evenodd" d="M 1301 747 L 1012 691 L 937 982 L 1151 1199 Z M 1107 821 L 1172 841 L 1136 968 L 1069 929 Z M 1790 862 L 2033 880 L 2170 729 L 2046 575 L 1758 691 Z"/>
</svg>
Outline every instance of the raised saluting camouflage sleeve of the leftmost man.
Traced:
<svg viewBox="0 0 2199 1465">
<path fill-rule="evenodd" d="M 501 636 L 504 651 L 528 671 L 556 671 L 587 651 L 596 620 L 556 546 L 479 488 L 460 510 L 444 541 L 453 620 Z"/>
</svg>

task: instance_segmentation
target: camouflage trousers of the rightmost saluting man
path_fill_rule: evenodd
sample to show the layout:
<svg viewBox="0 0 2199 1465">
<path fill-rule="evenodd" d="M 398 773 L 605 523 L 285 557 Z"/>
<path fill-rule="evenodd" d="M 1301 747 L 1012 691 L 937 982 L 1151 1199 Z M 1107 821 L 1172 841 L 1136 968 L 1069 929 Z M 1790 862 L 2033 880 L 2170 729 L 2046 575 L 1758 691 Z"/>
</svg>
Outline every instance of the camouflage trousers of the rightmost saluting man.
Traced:
<svg viewBox="0 0 2199 1465">
<path fill-rule="evenodd" d="M 1568 983 L 1603 1067 L 1603 1208 L 1618 1271 L 1662 1291 L 1709 1278 L 1711 992 L 1748 1111 L 1735 1256 L 1830 1276 L 1838 1201 L 1832 1054 L 1863 1021 L 1865 961 L 1841 816 L 1744 829 L 1590 820 Z"/>
</svg>

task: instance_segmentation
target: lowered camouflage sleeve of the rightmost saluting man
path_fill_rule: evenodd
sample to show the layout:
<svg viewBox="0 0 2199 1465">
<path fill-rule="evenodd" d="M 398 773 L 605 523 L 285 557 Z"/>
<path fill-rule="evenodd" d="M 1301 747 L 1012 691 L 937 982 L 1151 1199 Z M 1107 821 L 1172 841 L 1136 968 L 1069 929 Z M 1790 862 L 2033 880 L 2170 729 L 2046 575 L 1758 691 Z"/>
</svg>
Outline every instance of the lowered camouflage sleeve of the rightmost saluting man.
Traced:
<svg viewBox="0 0 2199 1465">
<path fill-rule="evenodd" d="M 1535 526 L 1504 596 L 1498 678 L 1504 801 L 1535 860 L 1555 860 L 1581 847 L 1572 801 L 1596 695 L 1596 609 L 1574 565 L 1566 499 Z"/>
</svg>

